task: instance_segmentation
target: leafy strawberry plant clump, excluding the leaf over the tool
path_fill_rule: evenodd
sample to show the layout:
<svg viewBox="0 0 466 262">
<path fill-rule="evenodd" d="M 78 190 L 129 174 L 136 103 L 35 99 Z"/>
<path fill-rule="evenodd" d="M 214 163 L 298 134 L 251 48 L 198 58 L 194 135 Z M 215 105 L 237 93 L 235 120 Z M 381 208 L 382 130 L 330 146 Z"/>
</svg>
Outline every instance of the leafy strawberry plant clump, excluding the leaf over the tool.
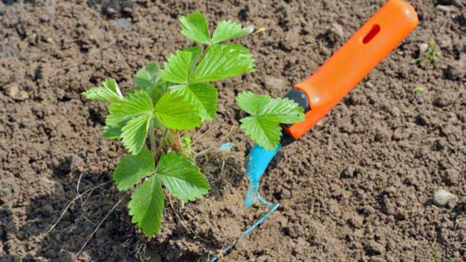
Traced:
<svg viewBox="0 0 466 262">
<path fill-rule="evenodd" d="M 179 22 L 181 34 L 196 45 L 170 55 L 164 69 L 151 62 L 138 70 L 137 86 L 126 96 L 111 78 L 83 93 L 110 103 L 103 137 L 121 139 L 130 153 L 117 164 L 113 181 L 118 190 L 131 192 L 129 214 L 147 236 L 160 230 L 163 188 L 181 201 L 199 199 L 210 189 L 191 158 L 191 137 L 180 131 L 216 117 L 218 93 L 211 82 L 254 71 L 247 48 L 224 43 L 251 34 L 254 27 L 220 21 L 211 35 L 198 11 Z"/>
</svg>

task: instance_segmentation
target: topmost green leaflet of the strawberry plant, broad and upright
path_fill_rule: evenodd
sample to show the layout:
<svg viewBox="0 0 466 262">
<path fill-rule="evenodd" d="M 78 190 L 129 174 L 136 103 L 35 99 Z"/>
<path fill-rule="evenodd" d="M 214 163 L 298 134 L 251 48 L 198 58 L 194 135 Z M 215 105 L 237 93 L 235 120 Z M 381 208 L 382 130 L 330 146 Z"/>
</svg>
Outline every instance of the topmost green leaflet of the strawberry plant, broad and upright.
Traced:
<svg viewBox="0 0 466 262">
<path fill-rule="evenodd" d="M 210 43 L 209 25 L 204 14 L 195 11 L 187 16 L 180 16 L 178 20 L 181 25 L 181 34 L 199 43 Z"/>
</svg>

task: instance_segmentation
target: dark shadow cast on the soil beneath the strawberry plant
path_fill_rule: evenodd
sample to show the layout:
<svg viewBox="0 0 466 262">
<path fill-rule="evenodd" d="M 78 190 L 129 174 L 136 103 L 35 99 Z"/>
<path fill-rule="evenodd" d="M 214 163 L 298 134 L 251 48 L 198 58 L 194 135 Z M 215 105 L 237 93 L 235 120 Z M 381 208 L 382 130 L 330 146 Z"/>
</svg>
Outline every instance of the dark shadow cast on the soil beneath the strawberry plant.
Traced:
<svg viewBox="0 0 466 262">
<path fill-rule="evenodd" d="M 209 153 L 204 160 L 199 162 L 201 169 L 211 182 L 211 195 L 216 201 L 223 199 L 227 187 L 240 186 L 243 175 L 238 170 L 240 164 L 232 156 L 216 152 Z M 0 209 L 0 239 L 4 243 L 8 234 L 14 234 L 15 238 L 20 241 L 39 238 L 41 243 L 36 257 L 43 257 L 50 261 L 75 260 L 75 255 L 89 235 L 120 200 L 123 193 L 117 192 L 111 182 L 107 183 L 111 180 L 108 172 L 84 171 L 79 182 L 79 191 L 80 193 L 88 190 L 92 192 L 83 194 L 82 199 L 76 199 L 56 227 L 44 236 L 59 219 L 62 211 L 78 196 L 76 185 L 81 173 L 72 169 L 67 159 L 54 168 L 54 194 L 35 198 L 27 206 L 27 220 L 23 227 L 15 227 L 10 210 Z M 107 184 L 92 190 L 103 183 Z M 131 224 L 126 207 L 129 200 L 130 197 L 126 196 L 111 212 L 83 249 L 80 258 L 91 261 L 199 261 L 207 254 L 198 254 L 185 248 L 190 243 L 192 246 L 200 243 L 204 250 L 222 248 L 222 243 L 215 241 L 212 230 L 201 230 L 201 232 L 196 230 L 195 208 L 192 209 L 189 206 L 185 207 L 183 212 L 179 212 L 176 201 L 172 203 L 174 209 L 170 207 L 168 201 L 164 209 L 164 219 L 167 223 L 165 228 L 169 233 L 148 241 L 137 233 L 136 228 Z M 184 247 L 178 247 L 178 242 L 183 242 Z M 114 243 L 120 244 L 114 245 Z M 3 248 L 8 254 L 8 245 L 4 244 Z M 11 257 L 11 259 L 17 261 L 20 258 Z"/>
</svg>

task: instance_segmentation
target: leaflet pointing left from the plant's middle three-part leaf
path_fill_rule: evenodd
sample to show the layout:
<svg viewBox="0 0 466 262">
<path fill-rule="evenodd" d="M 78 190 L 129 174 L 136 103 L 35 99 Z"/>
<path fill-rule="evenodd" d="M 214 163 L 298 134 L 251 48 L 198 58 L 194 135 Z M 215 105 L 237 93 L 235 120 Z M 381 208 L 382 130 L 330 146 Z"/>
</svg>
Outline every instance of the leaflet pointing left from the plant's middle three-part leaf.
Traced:
<svg viewBox="0 0 466 262">
<path fill-rule="evenodd" d="M 110 114 L 105 121 L 109 125 L 116 125 L 141 114 L 150 113 L 152 108 L 152 101 L 147 92 L 136 90 L 128 94 L 123 103 L 110 104 Z"/>
</svg>

